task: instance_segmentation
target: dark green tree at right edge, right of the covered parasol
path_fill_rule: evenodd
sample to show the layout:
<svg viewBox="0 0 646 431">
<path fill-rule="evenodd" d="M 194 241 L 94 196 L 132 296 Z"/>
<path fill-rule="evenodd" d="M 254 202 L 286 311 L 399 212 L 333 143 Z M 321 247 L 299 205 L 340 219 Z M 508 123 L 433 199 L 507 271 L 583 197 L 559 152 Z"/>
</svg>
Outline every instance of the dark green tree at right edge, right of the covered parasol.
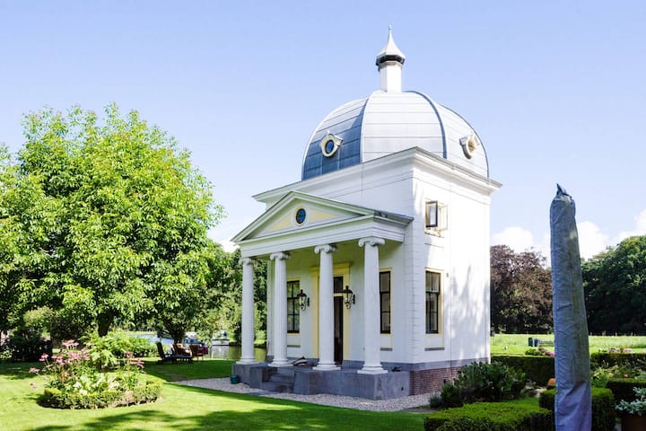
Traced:
<svg viewBox="0 0 646 431">
<path fill-rule="evenodd" d="M 584 262 L 589 330 L 646 332 L 646 235 Z"/>
</svg>

